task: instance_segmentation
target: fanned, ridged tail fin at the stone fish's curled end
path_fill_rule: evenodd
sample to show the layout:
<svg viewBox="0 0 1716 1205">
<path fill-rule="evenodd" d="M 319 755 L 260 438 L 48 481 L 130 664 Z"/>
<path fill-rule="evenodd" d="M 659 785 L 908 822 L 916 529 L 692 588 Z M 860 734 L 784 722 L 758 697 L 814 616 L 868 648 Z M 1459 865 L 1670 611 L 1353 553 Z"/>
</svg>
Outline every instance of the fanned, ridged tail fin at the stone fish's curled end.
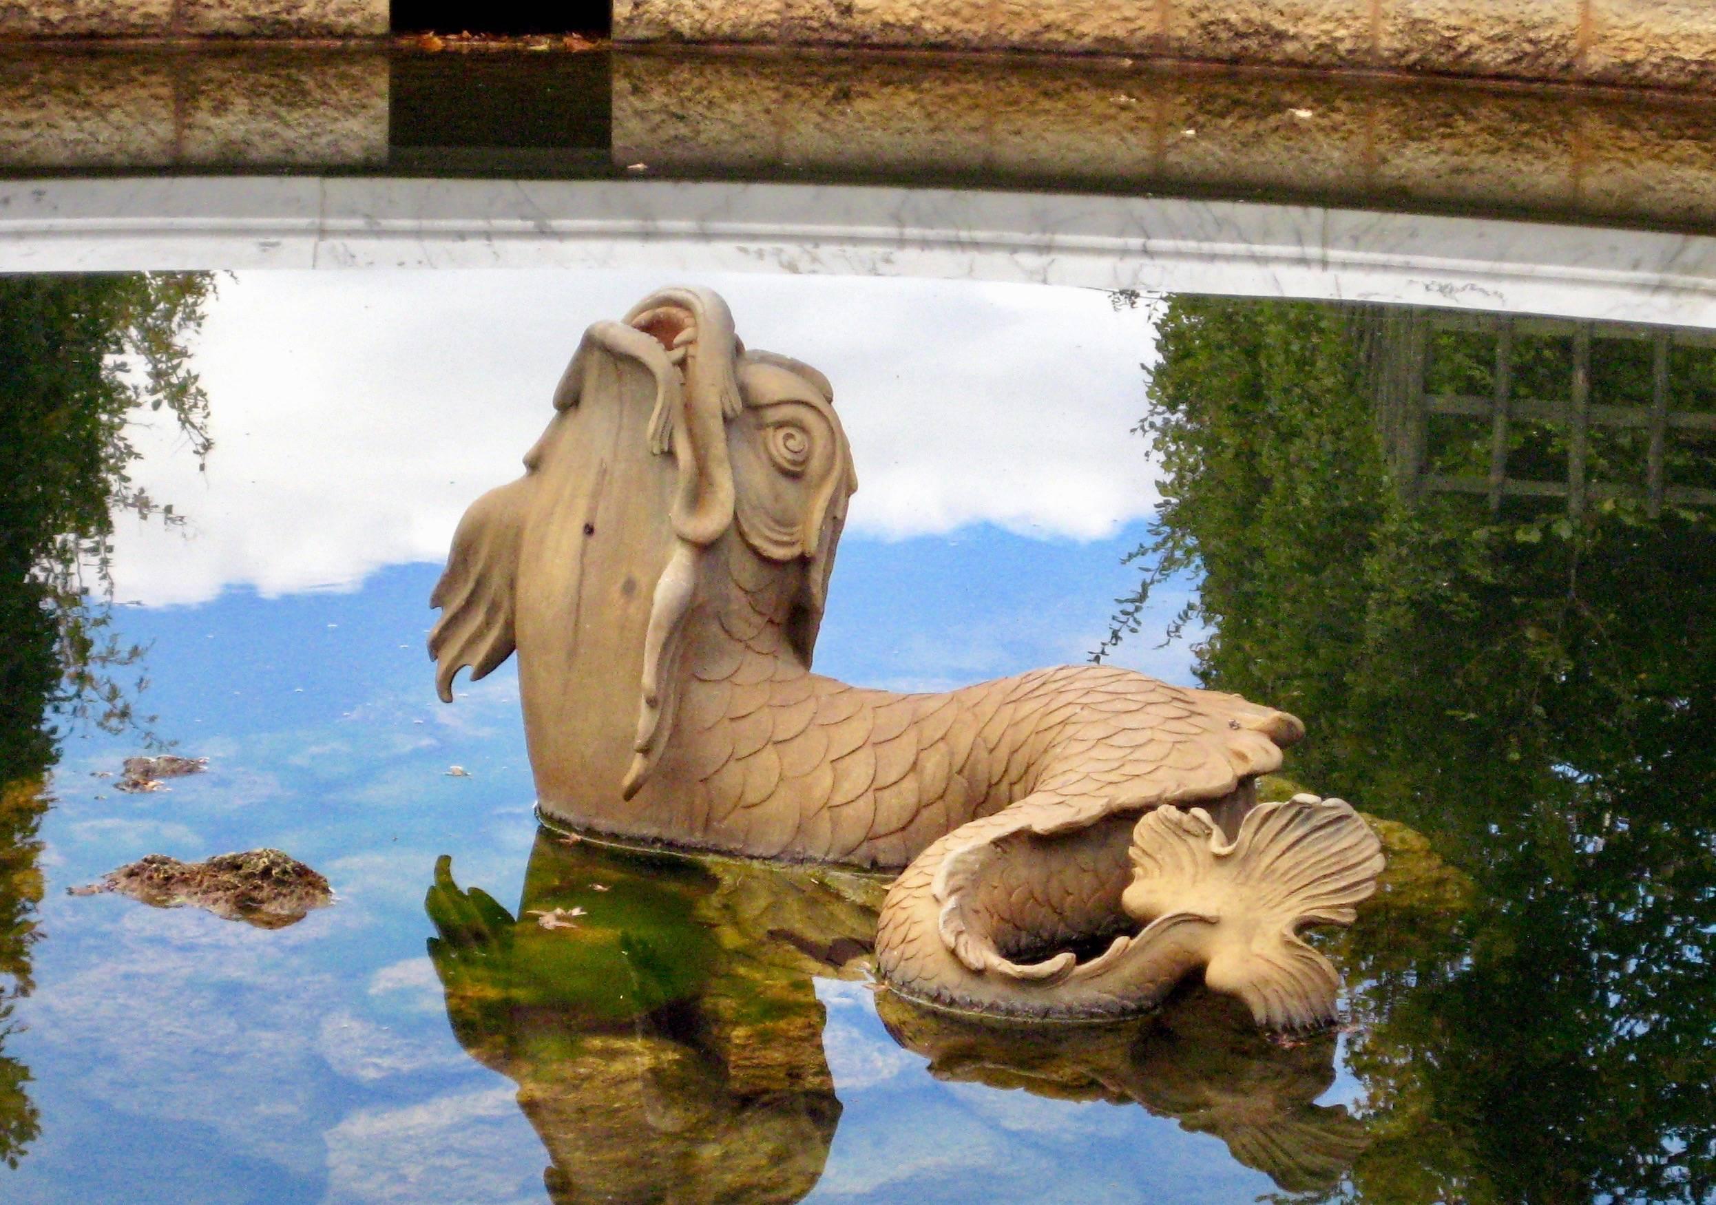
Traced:
<svg viewBox="0 0 1716 1205">
<path fill-rule="evenodd" d="M 1205 963 L 1210 989 L 1237 996 L 1258 1025 L 1304 1030 L 1335 1020 L 1340 973 L 1299 939 L 1304 925 L 1350 925 L 1376 889 L 1381 843 L 1342 800 L 1261 803 L 1227 841 L 1203 808 L 1158 807 L 1133 831 L 1122 906 L 1174 934 Z"/>
</svg>

